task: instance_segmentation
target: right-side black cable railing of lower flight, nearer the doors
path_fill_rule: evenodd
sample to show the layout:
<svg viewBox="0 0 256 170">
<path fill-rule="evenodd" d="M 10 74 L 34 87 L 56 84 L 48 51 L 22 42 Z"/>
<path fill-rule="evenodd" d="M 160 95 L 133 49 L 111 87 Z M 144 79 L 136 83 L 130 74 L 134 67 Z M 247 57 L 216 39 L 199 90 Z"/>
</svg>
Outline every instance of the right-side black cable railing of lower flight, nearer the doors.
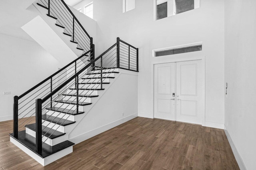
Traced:
<svg viewBox="0 0 256 170">
<path fill-rule="evenodd" d="M 86 101 L 86 99 L 88 98 L 88 96 L 90 94 L 92 94 L 94 92 L 94 90 L 96 90 L 98 87 L 100 87 L 100 89 L 102 89 L 102 83 L 104 82 L 104 80 L 108 77 L 107 74 L 111 74 L 111 72 L 104 74 L 103 77 L 103 64 L 108 65 L 108 68 L 110 69 L 115 69 L 117 68 L 116 66 L 116 59 L 117 59 L 117 51 L 112 51 L 113 48 L 116 48 L 116 44 L 114 44 L 112 47 L 110 47 L 107 51 L 105 51 L 104 53 L 102 53 L 102 55 L 100 55 L 99 57 L 97 57 L 96 59 L 90 61 L 90 63 L 88 63 L 86 66 L 84 66 L 84 68 L 80 69 L 76 74 L 74 74 L 73 76 L 71 76 L 70 78 L 68 78 L 68 80 L 66 80 L 63 84 L 61 84 L 60 86 L 58 86 L 58 88 L 56 88 L 55 90 L 53 90 L 50 94 L 48 94 L 47 96 L 45 96 L 42 99 L 36 99 L 36 121 L 37 121 L 37 129 L 36 129 L 36 134 L 38 134 L 36 136 L 36 141 L 37 141 L 37 150 L 40 151 L 42 150 L 42 144 L 45 143 L 47 141 L 47 139 L 50 138 L 50 136 L 58 129 L 58 127 L 60 127 L 62 125 L 62 123 L 64 123 L 64 121 L 66 121 L 68 119 L 68 117 L 70 117 L 71 114 L 69 114 L 68 116 L 64 117 L 65 115 L 63 115 L 62 117 L 60 117 L 61 119 L 65 119 L 62 123 L 58 124 L 58 121 L 55 122 L 55 124 L 53 126 L 51 126 L 51 128 L 48 130 L 48 132 L 51 129 L 54 129 L 54 131 L 50 134 L 50 136 L 46 137 L 45 135 L 42 135 L 42 125 L 45 125 L 45 127 L 47 127 L 48 125 L 50 125 L 50 123 L 53 123 L 53 120 L 49 120 L 47 123 L 47 119 L 42 121 L 42 115 L 43 112 L 46 110 L 47 107 L 50 107 L 50 109 L 48 108 L 47 110 L 52 110 L 53 107 L 56 107 L 56 105 L 58 105 L 59 103 L 56 102 L 56 104 L 54 106 L 50 106 L 49 100 L 50 98 L 54 98 L 54 101 L 56 99 L 58 99 L 60 97 L 60 95 L 71 95 L 67 101 L 69 102 L 64 102 L 61 104 L 61 106 L 58 105 L 59 108 L 62 109 L 68 109 L 68 111 L 72 111 L 72 112 L 76 112 L 78 113 L 78 109 L 79 106 L 81 104 L 81 102 Z M 109 57 L 112 56 L 112 57 Z M 91 70 L 96 70 L 94 69 L 94 67 L 90 68 L 90 70 L 87 70 L 89 67 L 91 67 L 93 64 L 95 63 L 100 63 L 100 65 L 98 66 L 94 66 L 96 68 L 100 68 L 100 74 L 91 74 Z M 95 64 L 96 65 L 96 64 Z M 90 75 L 93 75 L 92 77 L 90 77 Z M 98 76 L 98 77 L 97 77 Z M 92 84 L 92 86 L 90 88 L 85 87 L 87 84 L 82 84 L 84 82 L 88 82 L 91 81 L 91 83 L 95 83 Z M 97 83 L 97 84 L 96 84 Z M 72 88 L 73 87 L 73 88 Z M 75 96 L 75 98 L 72 98 L 72 96 Z M 85 97 L 85 98 L 83 98 Z M 70 106 L 70 103 L 75 103 L 72 104 Z M 65 106 L 65 104 L 68 104 Z M 58 110 L 57 110 L 58 111 Z M 47 114 L 49 111 L 46 111 L 44 114 Z M 50 114 L 53 115 L 56 111 L 54 111 L 53 113 Z M 58 117 L 61 112 L 57 113 L 58 115 L 55 117 Z"/>
</svg>

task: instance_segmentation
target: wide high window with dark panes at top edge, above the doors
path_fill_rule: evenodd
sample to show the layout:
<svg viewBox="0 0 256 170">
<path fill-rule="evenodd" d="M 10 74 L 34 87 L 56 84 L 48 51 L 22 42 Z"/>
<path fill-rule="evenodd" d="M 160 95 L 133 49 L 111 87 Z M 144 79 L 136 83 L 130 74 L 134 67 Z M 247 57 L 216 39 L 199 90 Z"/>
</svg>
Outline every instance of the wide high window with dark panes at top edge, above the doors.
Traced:
<svg viewBox="0 0 256 170">
<path fill-rule="evenodd" d="M 155 20 L 200 7 L 200 0 L 155 0 Z"/>
</svg>

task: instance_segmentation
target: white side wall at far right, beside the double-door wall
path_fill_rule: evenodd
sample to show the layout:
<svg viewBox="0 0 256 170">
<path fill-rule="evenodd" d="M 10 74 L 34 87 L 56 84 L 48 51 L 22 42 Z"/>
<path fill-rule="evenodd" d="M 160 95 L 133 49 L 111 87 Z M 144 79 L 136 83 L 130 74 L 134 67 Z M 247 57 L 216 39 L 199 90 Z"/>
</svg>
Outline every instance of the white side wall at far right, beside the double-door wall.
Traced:
<svg viewBox="0 0 256 170">
<path fill-rule="evenodd" d="M 248 170 L 256 167 L 255 8 L 255 0 L 225 1 L 225 126 L 240 168 Z"/>
</svg>

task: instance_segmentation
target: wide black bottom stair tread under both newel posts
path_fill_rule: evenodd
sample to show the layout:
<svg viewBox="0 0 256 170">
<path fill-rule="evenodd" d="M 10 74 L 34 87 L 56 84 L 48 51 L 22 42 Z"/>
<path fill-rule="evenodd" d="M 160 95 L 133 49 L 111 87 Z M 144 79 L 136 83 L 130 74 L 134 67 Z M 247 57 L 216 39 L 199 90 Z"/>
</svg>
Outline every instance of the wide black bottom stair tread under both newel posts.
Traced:
<svg viewBox="0 0 256 170">
<path fill-rule="evenodd" d="M 22 145 L 30 149 L 32 152 L 36 153 L 41 158 L 45 158 L 47 156 L 50 156 L 56 152 L 59 152 L 60 150 L 66 149 L 68 147 L 71 147 L 72 145 L 75 145 L 74 143 L 70 141 L 64 141 L 62 143 L 59 143 L 54 146 L 50 146 L 46 143 L 43 143 L 42 145 L 42 152 L 37 153 L 36 152 L 36 138 L 32 137 L 31 135 L 28 135 L 26 131 L 19 131 L 18 132 L 18 139 L 14 138 L 13 133 L 9 134 L 14 140 L 19 141 Z"/>
</svg>

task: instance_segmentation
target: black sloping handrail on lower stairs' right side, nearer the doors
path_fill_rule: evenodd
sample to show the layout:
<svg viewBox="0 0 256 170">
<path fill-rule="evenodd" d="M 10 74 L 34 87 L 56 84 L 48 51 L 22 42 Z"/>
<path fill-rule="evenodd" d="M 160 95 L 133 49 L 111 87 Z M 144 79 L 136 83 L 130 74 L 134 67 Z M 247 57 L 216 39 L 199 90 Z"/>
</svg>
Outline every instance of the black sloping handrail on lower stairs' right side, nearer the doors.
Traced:
<svg viewBox="0 0 256 170">
<path fill-rule="evenodd" d="M 115 43 L 114 45 L 112 45 L 109 49 L 107 49 L 104 53 L 102 53 L 99 57 L 97 57 L 96 59 L 92 60 L 89 64 L 87 64 L 84 68 L 82 68 L 80 71 L 78 71 L 76 74 L 74 74 L 73 76 L 71 76 L 68 80 L 66 80 L 64 83 L 62 83 L 60 86 L 58 86 L 58 88 L 56 88 L 55 90 L 53 90 L 50 94 L 48 94 L 47 96 L 45 96 L 42 99 L 42 103 L 46 102 L 46 100 L 48 100 L 51 96 L 53 96 L 54 94 L 56 94 L 59 90 L 61 90 L 64 86 L 66 86 L 69 82 L 71 82 L 72 80 L 74 80 L 74 78 L 76 78 L 79 74 L 81 74 L 86 68 L 88 68 L 89 66 L 91 66 L 92 64 L 95 63 L 95 61 L 97 61 L 98 59 L 100 59 L 103 55 L 105 55 L 106 53 L 108 53 L 108 51 L 110 51 L 110 49 L 112 49 L 114 46 L 116 46 L 118 43 Z"/>
</svg>

